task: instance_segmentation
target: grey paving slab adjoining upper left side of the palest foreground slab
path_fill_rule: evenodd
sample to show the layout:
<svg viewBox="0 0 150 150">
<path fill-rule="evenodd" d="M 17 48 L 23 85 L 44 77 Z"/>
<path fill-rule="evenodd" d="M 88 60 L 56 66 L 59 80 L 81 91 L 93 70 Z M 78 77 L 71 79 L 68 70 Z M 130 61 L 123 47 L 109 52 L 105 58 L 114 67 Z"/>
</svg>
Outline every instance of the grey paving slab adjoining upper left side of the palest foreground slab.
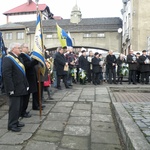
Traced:
<svg viewBox="0 0 150 150">
<path fill-rule="evenodd" d="M 65 122 L 61 121 L 44 121 L 41 126 L 43 130 L 63 131 Z"/>
</svg>

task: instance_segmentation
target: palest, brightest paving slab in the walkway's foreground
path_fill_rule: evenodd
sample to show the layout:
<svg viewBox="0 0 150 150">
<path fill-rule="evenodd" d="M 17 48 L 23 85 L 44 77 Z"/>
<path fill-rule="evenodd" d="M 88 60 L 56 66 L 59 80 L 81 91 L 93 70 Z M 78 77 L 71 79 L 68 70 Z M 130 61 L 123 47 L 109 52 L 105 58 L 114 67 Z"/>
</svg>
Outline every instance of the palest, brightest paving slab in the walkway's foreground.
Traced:
<svg viewBox="0 0 150 150">
<path fill-rule="evenodd" d="M 67 125 L 64 131 L 65 135 L 75 135 L 75 136 L 89 136 L 90 127 L 89 126 L 74 126 Z"/>
</svg>

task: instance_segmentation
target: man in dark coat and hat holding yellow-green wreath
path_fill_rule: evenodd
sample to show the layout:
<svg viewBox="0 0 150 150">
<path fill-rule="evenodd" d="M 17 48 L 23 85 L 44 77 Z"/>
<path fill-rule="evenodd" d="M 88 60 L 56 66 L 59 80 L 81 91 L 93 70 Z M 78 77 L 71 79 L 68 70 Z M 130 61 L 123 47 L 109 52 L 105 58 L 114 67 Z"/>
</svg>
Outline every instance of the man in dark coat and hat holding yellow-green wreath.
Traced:
<svg viewBox="0 0 150 150">
<path fill-rule="evenodd" d="M 79 72 L 84 71 L 87 76 L 88 61 L 87 61 L 86 51 L 83 49 L 81 52 L 82 55 L 79 57 Z M 80 84 L 86 83 L 86 76 L 84 78 L 80 78 Z"/>
</svg>

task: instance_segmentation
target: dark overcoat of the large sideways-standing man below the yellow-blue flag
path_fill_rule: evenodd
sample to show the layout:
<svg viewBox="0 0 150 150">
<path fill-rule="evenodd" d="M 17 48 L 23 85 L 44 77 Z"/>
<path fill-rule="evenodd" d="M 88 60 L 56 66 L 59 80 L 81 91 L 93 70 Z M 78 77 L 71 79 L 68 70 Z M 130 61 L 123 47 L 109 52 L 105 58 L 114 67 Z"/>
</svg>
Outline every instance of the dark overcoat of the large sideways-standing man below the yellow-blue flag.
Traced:
<svg viewBox="0 0 150 150">
<path fill-rule="evenodd" d="M 55 55 L 55 59 L 54 59 L 57 75 L 67 74 L 67 72 L 64 71 L 64 66 L 65 66 L 66 62 L 67 61 L 66 61 L 64 54 L 57 52 Z"/>
</svg>

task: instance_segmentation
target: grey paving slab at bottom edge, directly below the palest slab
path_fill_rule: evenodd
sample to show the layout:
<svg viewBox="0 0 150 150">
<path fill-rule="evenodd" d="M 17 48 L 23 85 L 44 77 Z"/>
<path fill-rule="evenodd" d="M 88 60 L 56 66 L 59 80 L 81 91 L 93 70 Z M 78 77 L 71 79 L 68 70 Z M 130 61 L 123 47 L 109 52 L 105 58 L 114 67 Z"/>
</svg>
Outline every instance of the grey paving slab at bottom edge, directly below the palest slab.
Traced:
<svg viewBox="0 0 150 150">
<path fill-rule="evenodd" d="M 63 136 L 61 146 L 70 150 L 89 150 L 89 138 L 77 136 Z"/>
</svg>

